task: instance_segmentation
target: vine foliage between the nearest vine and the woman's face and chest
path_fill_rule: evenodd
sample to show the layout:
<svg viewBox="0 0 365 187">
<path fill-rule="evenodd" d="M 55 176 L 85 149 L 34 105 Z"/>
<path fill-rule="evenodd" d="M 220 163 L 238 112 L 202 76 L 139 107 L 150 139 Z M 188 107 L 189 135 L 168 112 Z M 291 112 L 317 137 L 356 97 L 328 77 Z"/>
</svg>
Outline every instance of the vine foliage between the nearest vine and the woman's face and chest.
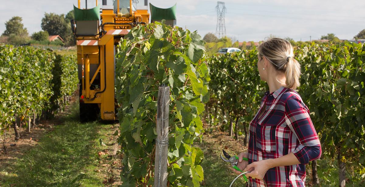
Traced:
<svg viewBox="0 0 365 187">
<path fill-rule="evenodd" d="M 232 120 L 243 117 L 242 122 L 249 124 L 267 90 L 258 75 L 257 60 L 256 50 L 215 54 L 208 58 L 212 79 L 209 107 L 220 108 Z"/>
</svg>

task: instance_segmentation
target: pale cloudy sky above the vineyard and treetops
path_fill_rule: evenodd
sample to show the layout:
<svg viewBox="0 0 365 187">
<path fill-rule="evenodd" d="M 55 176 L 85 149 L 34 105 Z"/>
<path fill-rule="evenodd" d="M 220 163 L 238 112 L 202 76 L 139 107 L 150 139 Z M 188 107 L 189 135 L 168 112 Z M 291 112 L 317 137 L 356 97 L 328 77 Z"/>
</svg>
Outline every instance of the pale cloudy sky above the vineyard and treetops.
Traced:
<svg viewBox="0 0 365 187">
<path fill-rule="evenodd" d="M 143 0 L 139 0 L 143 1 Z M 226 7 L 226 35 L 238 41 L 262 41 L 270 35 L 290 37 L 295 41 L 320 39 L 334 33 L 339 39 L 353 39 L 365 29 L 364 0 L 220 0 Z M 111 4 L 112 0 L 108 0 Z M 149 0 L 169 8 L 177 4 L 177 26 L 204 37 L 216 33 L 217 1 L 213 0 Z M 23 18 L 31 35 L 41 30 L 45 12 L 67 14 L 77 0 L 0 0 L 0 34 L 12 16 Z M 101 0 L 98 0 L 101 4 Z M 95 6 L 88 0 L 88 8 Z M 85 0 L 81 0 L 85 8 Z"/>
</svg>

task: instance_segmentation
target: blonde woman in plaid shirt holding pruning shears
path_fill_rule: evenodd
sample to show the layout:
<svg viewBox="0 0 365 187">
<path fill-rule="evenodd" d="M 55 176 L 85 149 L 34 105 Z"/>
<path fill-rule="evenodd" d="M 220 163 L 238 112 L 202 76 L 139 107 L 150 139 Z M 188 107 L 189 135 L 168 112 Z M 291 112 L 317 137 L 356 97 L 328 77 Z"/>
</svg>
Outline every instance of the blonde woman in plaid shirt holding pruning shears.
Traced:
<svg viewBox="0 0 365 187">
<path fill-rule="evenodd" d="M 248 152 L 239 154 L 237 166 L 250 171 L 249 186 L 304 186 L 305 164 L 319 159 L 322 150 L 308 107 L 294 91 L 300 64 L 284 39 L 268 39 L 257 51 L 258 72 L 269 91 L 250 123 Z"/>
</svg>

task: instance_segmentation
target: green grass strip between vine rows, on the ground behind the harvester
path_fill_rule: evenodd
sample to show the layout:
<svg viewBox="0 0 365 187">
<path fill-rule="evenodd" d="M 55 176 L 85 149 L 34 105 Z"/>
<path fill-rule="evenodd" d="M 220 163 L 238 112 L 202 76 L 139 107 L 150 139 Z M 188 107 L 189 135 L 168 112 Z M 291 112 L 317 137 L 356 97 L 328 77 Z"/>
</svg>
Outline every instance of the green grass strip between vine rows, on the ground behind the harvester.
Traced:
<svg viewBox="0 0 365 187">
<path fill-rule="evenodd" d="M 39 140 L 13 166 L 14 173 L 5 175 L 1 186 L 104 186 L 102 176 L 94 170 L 107 126 L 98 122 L 79 123 L 78 105 L 64 123 Z M 103 127 L 104 126 L 104 127 Z"/>
</svg>

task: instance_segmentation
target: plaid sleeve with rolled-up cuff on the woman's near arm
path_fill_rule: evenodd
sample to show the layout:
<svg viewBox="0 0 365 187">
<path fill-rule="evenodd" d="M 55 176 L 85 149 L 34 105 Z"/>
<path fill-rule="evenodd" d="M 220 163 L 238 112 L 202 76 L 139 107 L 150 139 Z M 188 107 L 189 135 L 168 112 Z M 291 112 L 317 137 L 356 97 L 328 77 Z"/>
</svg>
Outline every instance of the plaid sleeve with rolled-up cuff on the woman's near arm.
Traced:
<svg viewBox="0 0 365 187">
<path fill-rule="evenodd" d="M 322 154 L 319 138 L 311 121 L 309 110 L 296 95 L 285 103 L 285 121 L 299 141 L 292 151 L 301 164 L 319 159 Z"/>
</svg>

